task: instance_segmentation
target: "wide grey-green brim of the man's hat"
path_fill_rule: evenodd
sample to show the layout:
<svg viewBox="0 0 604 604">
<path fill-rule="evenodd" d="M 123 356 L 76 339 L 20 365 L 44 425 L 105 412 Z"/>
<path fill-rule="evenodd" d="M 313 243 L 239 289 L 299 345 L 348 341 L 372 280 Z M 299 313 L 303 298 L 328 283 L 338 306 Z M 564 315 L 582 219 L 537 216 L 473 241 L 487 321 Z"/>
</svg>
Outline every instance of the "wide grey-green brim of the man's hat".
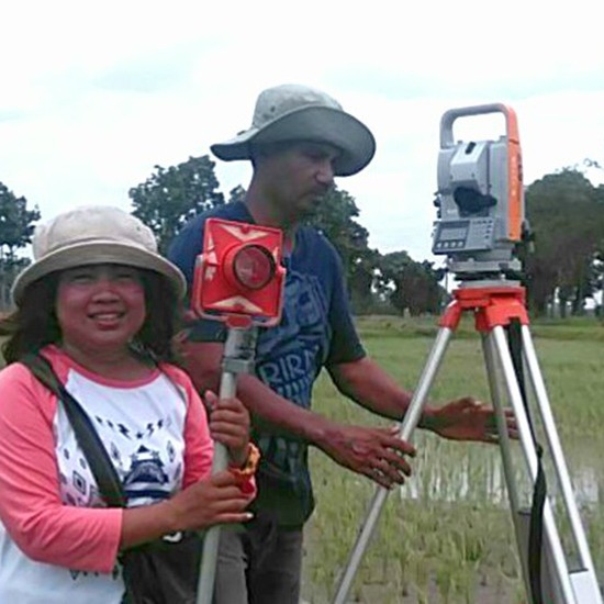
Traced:
<svg viewBox="0 0 604 604">
<path fill-rule="evenodd" d="M 255 145 L 288 141 L 313 141 L 337 147 L 342 153 L 334 163 L 334 176 L 351 176 L 362 170 L 376 154 L 371 131 L 344 111 L 307 105 L 286 113 L 261 128 L 250 127 L 234 138 L 212 145 L 220 159 L 251 159 Z"/>
</svg>

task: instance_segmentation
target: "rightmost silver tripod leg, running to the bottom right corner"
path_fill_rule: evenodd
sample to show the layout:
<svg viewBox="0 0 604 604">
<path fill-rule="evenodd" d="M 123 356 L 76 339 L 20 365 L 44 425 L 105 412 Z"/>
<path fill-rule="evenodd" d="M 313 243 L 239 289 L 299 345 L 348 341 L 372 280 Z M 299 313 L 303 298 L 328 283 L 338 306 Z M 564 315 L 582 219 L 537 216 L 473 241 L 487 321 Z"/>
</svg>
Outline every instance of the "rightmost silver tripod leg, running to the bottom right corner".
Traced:
<svg viewBox="0 0 604 604">
<path fill-rule="evenodd" d="M 580 570 L 571 575 L 571 581 L 574 591 L 578 594 L 578 602 L 594 602 L 595 604 L 600 604 L 602 603 L 602 596 L 600 594 L 594 564 L 590 553 L 588 539 L 583 530 L 583 525 L 581 523 L 579 510 L 577 507 L 577 502 L 574 500 L 569 470 L 562 452 L 562 446 L 560 444 L 556 423 L 553 421 L 553 414 L 549 404 L 547 390 L 539 370 L 537 355 L 533 346 L 533 338 L 530 337 L 530 332 L 527 326 L 523 327 L 522 337 L 523 351 L 528 368 L 529 381 L 535 394 L 537 409 L 541 417 L 544 432 L 551 458 L 553 460 L 556 476 L 580 559 Z"/>
</svg>

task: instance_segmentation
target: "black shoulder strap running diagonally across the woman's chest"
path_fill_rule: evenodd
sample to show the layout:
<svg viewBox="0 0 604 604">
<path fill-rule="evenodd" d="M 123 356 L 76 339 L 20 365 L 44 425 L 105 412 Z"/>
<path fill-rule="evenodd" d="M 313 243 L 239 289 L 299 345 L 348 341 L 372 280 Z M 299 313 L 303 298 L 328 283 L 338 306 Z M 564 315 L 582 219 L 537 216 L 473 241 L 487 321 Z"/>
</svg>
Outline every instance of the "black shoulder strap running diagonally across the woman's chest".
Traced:
<svg viewBox="0 0 604 604">
<path fill-rule="evenodd" d="M 99 492 L 110 507 L 125 507 L 125 495 L 118 472 L 109 458 L 97 430 L 80 403 L 63 385 L 47 359 L 41 355 L 26 355 L 20 359 L 30 371 L 63 403 L 65 413 L 76 434 Z"/>
</svg>

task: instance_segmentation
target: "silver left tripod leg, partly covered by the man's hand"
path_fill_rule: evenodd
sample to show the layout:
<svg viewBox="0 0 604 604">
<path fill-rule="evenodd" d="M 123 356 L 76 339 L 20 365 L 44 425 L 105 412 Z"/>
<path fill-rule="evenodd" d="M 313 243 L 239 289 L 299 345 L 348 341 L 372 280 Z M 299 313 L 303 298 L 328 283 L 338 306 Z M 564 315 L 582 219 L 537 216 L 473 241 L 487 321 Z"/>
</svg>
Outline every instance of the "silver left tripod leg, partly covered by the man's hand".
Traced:
<svg viewBox="0 0 604 604">
<path fill-rule="evenodd" d="M 440 367 L 452 331 L 448 327 L 441 327 L 438 332 L 436 340 L 428 356 L 428 360 L 426 361 L 426 366 L 424 367 L 424 370 L 422 372 L 422 377 L 420 378 L 417 388 L 413 393 L 413 399 L 411 400 L 403 422 L 401 423 L 399 437 L 403 440 L 411 440 L 411 435 L 420 423 L 428 391 L 434 382 L 438 368 Z M 376 493 L 369 506 L 367 518 L 359 530 L 359 535 L 350 552 L 350 557 L 348 558 L 347 566 L 344 569 L 344 572 L 339 580 L 336 595 L 332 601 L 333 604 L 346 603 L 348 594 L 350 593 L 350 588 L 353 586 L 353 581 L 365 555 L 365 550 L 367 549 L 367 546 L 369 545 L 369 541 L 376 530 L 376 525 L 378 524 L 378 519 L 380 517 L 380 513 L 382 511 L 388 493 L 388 489 L 384 489 L 383 486 L 378 486 L 376 489 Z"/>
</svg>

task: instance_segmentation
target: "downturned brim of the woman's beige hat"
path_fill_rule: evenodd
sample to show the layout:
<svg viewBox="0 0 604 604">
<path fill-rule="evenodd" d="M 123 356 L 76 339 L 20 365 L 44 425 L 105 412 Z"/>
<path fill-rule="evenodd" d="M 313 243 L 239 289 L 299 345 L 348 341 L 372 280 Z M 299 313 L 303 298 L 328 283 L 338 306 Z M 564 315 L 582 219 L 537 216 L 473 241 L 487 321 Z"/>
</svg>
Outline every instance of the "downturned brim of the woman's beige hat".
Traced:
<svg viewBox="0 0 604 604">
<path fill-rule="evenodd" d="M 182 272 L 171 262 L 142 247 L 116 242 L 82 242 L 47 254 L 19 273 L 12 287 L 12 299 L 21 305 L 30 284 L 51 272 L 86 265 L 114 264 L 147 269 L 166 277 L 179 299 L 184 297 L 187 281 Z"/>
</svg>

